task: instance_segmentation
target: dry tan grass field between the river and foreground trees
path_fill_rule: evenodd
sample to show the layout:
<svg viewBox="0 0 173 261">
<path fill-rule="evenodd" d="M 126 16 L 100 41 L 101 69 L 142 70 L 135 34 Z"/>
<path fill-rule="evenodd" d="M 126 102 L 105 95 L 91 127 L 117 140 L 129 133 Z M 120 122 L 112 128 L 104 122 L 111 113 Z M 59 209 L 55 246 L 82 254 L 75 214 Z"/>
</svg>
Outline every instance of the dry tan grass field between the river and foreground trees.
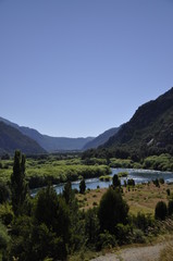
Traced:
<svg viewBox="0 0 173 261">
<path fill-rule="evenodd" d="M 156 204 L 163 200 L 168 203 L 166 189 L 170 188 L 173 191 L 173 184 L 163 184 L 160 188 L 156 187 L 152 183 L 149 185 L 137 185 L 134 189 L 123 188 L 123 198 L 129 206 L 129 213 L 137 214 L 137 212 L 155 213 Z M 107 191 L 107 188 L 99 188 L 90 191 L 86 191 L 85 195 L 76 195 L 79 202 L 85 202 L 81 206 L 81 209 L 87 210 L 99 206 L 102 195 Z"/>
</svg>

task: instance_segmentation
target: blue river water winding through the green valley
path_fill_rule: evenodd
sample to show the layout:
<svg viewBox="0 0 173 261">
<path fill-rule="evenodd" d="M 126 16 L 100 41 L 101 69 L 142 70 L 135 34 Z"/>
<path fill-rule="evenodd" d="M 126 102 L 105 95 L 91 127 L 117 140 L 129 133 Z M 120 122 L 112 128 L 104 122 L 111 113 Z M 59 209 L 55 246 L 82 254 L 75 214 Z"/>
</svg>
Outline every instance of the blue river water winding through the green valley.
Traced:
<svg viewBox="0 0 173 261">
<path fill-rule="evenodd" d="M 134 170 L 134 169 L 112 169 L 112 174 L 110 176 L 113 176 L 114 174 L 118 174 L 120 172 L 127 172 L 127 177 L 121 177 L 122 185 L 124 184 L 124 181 L 128 178 L 134 178 L 136 184 L 147 183 L 150 181 L 153 181 L 156 178 L 164 178 L 165 183 L 173 183 L 173 173 L 171 172 L 159 172 L 159 171 L 149 171 L 149 170 Z M 73 182 L 72 188 L 79 189 L 79 183 L 81 181 Z M 108 188 L 112 181 L 103 182 L 100 181 L 99 177 L 95 178 L 87 178 L 85 179 L 86 188 L 89 189 L 96 189 L 97 187 L 100 188 Z M 54 186 L 54 189 L 58 194 L 63 191 L 64 184 L 59 184 Z M 35 196 L 37 194 L 38 189 L 32 190 L 32 196 Z"/>
</svg>

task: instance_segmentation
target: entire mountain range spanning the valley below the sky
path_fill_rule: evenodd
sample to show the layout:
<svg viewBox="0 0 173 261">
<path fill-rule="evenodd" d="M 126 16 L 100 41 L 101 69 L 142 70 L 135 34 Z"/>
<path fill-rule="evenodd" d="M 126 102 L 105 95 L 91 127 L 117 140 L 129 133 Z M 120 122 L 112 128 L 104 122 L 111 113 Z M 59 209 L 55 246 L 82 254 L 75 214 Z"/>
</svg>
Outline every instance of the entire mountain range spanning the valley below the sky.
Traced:
<svg viewBox="0 0 173 261">
<path fill-rule="evenodd" d="M 0 117 L 0 153 L 83 151 L 90 148 L 122 149 L 131 153 L 173 154 L 173 88 L 135 112 L 129 122 L 98 137 L 50 137 Z"/>
</svg>

